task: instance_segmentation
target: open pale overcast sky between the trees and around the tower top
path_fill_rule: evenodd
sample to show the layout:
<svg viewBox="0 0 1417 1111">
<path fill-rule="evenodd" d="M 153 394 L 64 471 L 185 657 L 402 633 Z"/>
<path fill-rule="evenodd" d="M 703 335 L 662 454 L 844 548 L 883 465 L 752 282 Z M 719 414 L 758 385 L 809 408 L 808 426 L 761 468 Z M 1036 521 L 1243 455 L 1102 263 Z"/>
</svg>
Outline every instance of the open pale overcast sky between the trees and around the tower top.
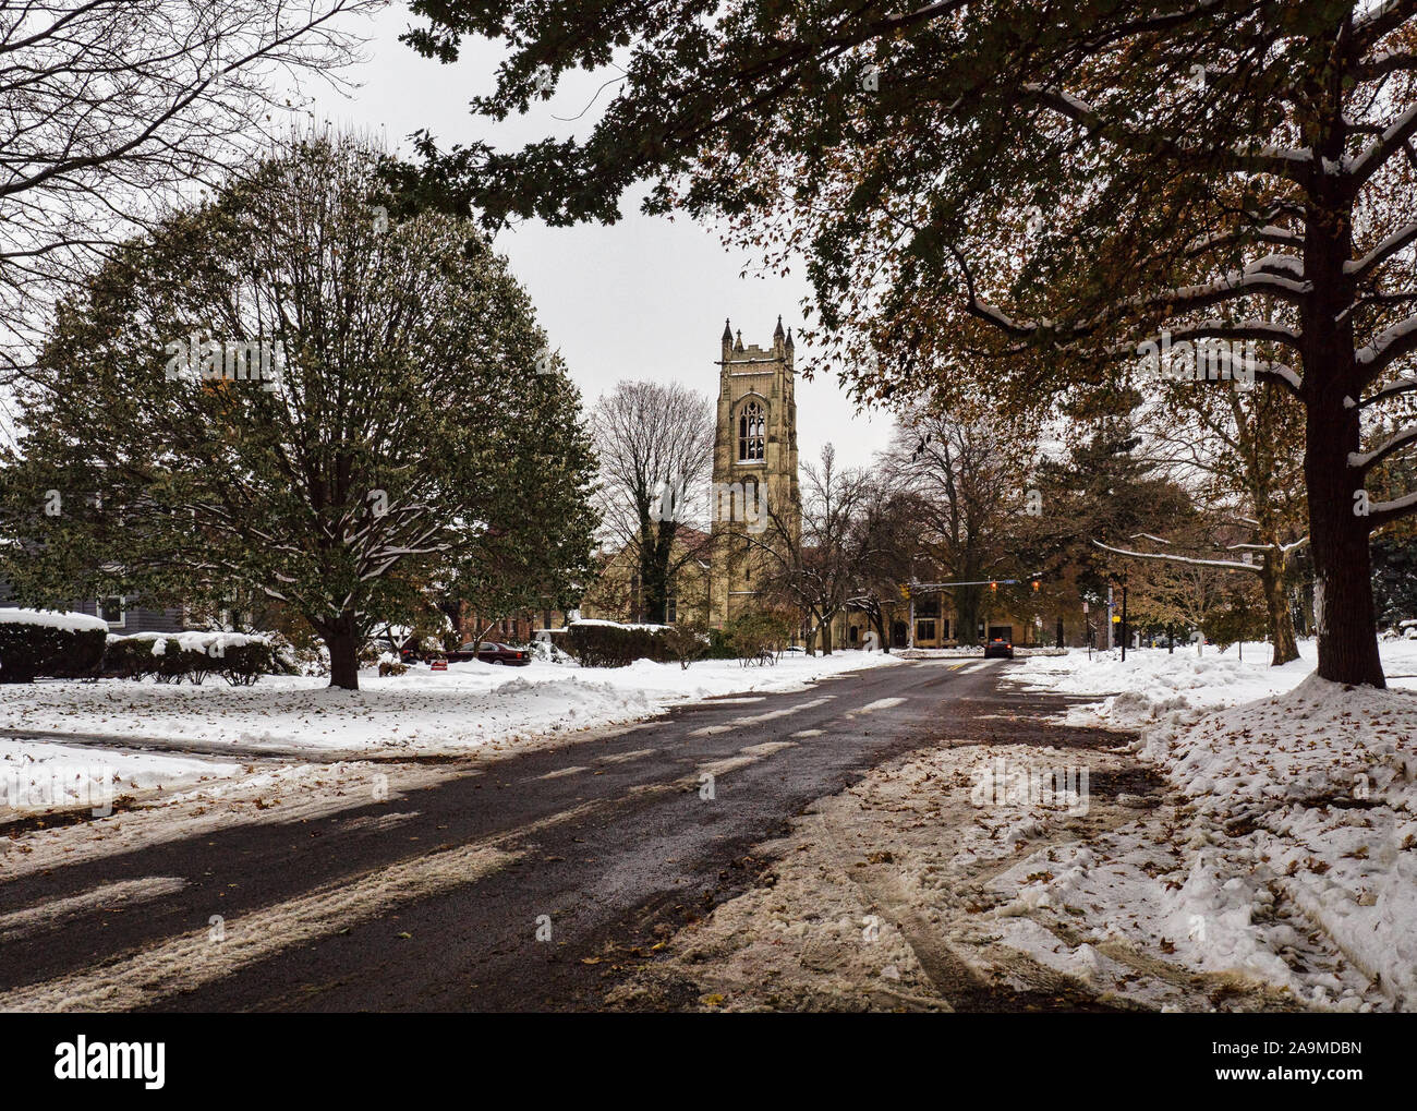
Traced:
<svg viewBox="0 0 1417 1111">
<path fill-rule="evenodd" d="M 470 41 L 455 65 L 425 61 L 398 41 L 410 16 L 402 4 L 373 24 L 368 61 L 349 77 L 359 82 L 344 99 L 310 86 L 316 115 L 336 126 L 373 133 L 390 149 L 407 150 L 419 128 L 439 146 L 476 139 L 513 147 L 548 135 L 584 133 L 595 109 L 580 123 L 554 116 L 582 112 L 604 78 L 571 74 L 555 96 L 527 116 L 492 126 L 473 116 L 468 102 L 495 84 L 499 44 Z M 602 102 L 612 91 L 601 94 Z M 635 201 L 612 227 L 547 228 L 526 224 L 497 237 L 521 283 L 531 292 L 551 346 L 560 347 L 587 405 L 621 378 L 677 380 L 706 394 L 717 387 L 718 337 L 724 317 L 743 329 L 744 343 L 767 347 L 778 313 L 795 327 L 802 316 L 805 278 L 740 278 L 755 259 L 727 252 L 713 228 L 686 220 L 650 220 Z M 802 271 L 802 268 L 794 268 Z M 798 344 L 798 366 L 808 354 Z M 864 465 L 890 432 L 884 411 L 857 414 L 835 378 L 798 380 L 798 448 L 803 461 L 836 444 L 840 462 Z"/>
</svg>

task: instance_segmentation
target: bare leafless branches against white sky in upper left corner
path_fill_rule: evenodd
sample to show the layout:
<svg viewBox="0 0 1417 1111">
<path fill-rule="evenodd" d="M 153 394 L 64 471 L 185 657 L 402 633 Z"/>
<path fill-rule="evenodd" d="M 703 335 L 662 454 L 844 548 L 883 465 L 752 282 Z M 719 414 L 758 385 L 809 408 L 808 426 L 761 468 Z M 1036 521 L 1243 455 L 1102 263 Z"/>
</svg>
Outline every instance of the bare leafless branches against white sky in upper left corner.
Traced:
<svg viewBox="0 0 1417 1111">
<path fill-rule="evenodd" d="M 288 128 L 302 72 L 357 57 L 383 0 L 74 0 L 0 9 L 0 383 L 95 252 Z"/>
</svg>

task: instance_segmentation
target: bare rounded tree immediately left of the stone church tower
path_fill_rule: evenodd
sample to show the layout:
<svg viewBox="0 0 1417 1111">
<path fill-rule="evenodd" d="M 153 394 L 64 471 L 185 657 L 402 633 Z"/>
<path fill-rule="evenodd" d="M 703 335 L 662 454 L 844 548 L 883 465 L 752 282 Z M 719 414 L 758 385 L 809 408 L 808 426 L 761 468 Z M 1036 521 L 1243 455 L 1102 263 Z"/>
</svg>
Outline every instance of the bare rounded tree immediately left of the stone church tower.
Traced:
<svg viewBox="0 0 1417 1111">
<path fill-rule="evenodd" d="M 700 544 L 680 544 L 676 553 L 674 537 L 682 524 L 707 519 L 713 405 L 677 383 L 622 381 L 597 402 L 591 434 L 601 456 L 604 529 L 639 568 L 636 616 L 663 622 L 674 574 L 704 554 Z"/>
</svg>

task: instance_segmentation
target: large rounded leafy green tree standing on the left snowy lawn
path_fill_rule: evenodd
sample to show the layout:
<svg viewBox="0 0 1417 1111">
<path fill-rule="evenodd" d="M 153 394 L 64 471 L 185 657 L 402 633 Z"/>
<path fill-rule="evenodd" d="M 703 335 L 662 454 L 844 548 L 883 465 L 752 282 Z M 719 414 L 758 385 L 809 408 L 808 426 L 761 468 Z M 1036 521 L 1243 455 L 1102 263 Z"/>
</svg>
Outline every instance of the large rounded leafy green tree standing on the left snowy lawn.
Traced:
<svg viewBox="0 0 1417 1111">
<path fill-rule="evenodd" d="M 0 470 L 21 599 L 251 591 L 356 689 L 368 631 L 429 582 L 561 599 L 584 581 L 577 394 L 472 224 L 390 220 L 381 160 L 292 140 L 62 308 Z"/>
</svg>

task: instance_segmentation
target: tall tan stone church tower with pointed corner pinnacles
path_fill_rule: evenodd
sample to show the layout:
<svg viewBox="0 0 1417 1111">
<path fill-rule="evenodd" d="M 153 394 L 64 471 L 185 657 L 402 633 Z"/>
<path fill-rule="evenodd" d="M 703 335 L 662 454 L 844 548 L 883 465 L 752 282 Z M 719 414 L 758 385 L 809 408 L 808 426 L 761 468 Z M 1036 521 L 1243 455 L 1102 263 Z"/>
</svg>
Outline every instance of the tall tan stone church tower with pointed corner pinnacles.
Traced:
<svg viewBox="0 0 1417 1111">
<path fill-rule="evenodd" d="M 718 360 L 718 425 L 713 456 L 713 554 L 708 619 L 714 628 L 755 607 L 758 585 L 782 551 L 796 547 L 801 497 L 792 333 L 782 317 L 772 347 L 743 346 L 724 322 Z"/>
</svg>

